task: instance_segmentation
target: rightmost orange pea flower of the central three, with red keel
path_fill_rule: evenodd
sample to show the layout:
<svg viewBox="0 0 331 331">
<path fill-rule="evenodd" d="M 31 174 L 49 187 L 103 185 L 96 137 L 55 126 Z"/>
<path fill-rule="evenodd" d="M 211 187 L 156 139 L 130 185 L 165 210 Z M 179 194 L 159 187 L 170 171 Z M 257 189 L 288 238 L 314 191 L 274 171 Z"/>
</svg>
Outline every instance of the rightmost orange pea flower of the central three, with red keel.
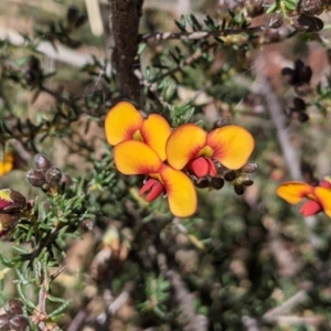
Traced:
<svg viewBox="0 0 331 331">
<path fill-rule="evenodd" d="M 167 160 L 172 168 L 185 168 L 199 178 L 216 175 L 215 161 L 232 170 L 242 168 L 253 149 L 253 136 L 236 125 L 210 134 L 194 124 L 182 125 L 170 135 L 166 146 Z"/>
</svg>

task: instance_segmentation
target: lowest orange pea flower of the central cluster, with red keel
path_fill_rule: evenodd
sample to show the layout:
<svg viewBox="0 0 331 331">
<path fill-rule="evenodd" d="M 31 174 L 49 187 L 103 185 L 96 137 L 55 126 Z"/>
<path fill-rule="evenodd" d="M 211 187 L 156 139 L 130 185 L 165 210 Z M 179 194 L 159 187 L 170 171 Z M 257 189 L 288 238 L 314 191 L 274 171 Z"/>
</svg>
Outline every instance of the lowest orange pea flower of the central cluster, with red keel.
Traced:
<svg viewBox="0 0 331 331">
<path fill-rule="evenodd" d="M 139 194 L 153 201 L 168 195 L 170 211 L 179 217 L 192 215 L 196 210 L 196 192 L 189 177 L 164 164 L 160 156 L 148 145 L 129 140 L 114 148 L 117 169 L 124 174 L 146 174 L 147 181 Z"/>
</svg>

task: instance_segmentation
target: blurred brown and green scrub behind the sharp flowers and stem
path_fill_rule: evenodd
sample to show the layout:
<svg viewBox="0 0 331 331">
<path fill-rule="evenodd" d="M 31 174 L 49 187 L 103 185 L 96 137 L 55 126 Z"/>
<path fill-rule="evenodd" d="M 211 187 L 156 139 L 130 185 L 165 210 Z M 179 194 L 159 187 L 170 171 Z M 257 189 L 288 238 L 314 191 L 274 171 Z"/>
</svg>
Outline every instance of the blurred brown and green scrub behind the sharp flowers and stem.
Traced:
<svg viewBox="0 0 331 331">
<path fill-rule="evenodd" d="M 319 15 L 322 31 L 300 33 L 290 20 L 270 29 L 271 3 L 143 1 L 138 108 L 172 125 L 238 124 L 256 141 L 254 184 L 242 195 L 231 183 L 199 189 L 197 212 L 179 220 L 166 200 L 141 201 L 143 179 L 116 172 L 105 140 L 104 116 L 122 98 L 110 2 L 0 0 L 0 145 L 13 158 L 0 189 L 39 196 L 47 213 L 47 196 L 25 180 L 41 152 L 67 186 L 82 183 L 95 216 L 93 226 L 79 218 L 88 224 L 65 237 L 49 266 L 65 266 L 50 290 L 71 300 L 61 330 L 331 330 L 330 218 L 303 217 L 275 193 L 284 181 L 313 185 L 331 174 L 330 13 Z M 214 31 L 232 32 L 190 40 L 192 31 L 213 31 L 209 19 Z M 157 32 L 184 36 L 143 39 Z M 303 88 L 284 75 L 299 60 L 312 73 Z M 7 258 L 20 254 L 13 244 L 0 242 Z M 13 279 L 8 271 L 3 305 L 20 298 Z M 36 288 L 24 289 L 35 305 Z"/>
</svg>

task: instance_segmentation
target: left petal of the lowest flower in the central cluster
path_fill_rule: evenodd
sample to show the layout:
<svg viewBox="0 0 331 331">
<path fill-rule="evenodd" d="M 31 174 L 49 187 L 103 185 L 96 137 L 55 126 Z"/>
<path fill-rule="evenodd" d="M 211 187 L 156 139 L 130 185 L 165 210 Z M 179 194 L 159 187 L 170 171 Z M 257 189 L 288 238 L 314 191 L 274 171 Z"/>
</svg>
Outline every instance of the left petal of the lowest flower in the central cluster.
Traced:
<svg viewBox="0 0 331 331">
<path fill-rule="evenodd" d="M 114 160 L 117 169 L 124 174 L 158 173 L 163 164 L 150 147 L 137 140 L 116 145 Z"/>
</svg>

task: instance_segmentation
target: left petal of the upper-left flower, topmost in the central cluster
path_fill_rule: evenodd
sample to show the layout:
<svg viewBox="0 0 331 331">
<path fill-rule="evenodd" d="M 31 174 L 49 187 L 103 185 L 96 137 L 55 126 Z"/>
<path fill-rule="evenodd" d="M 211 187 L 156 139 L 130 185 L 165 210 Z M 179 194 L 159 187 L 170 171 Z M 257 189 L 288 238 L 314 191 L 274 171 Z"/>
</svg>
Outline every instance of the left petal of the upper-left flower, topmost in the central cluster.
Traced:
<svg viewBox="0 0 331 331">
<path fill-rule="evenodd" d="M 134 134 L 142 126 L 141 114 L 129 103 L 121 102 L 113 107 L 105 119 L 106 137 L 109 145 L 134 139 Z"/>
</svg>

